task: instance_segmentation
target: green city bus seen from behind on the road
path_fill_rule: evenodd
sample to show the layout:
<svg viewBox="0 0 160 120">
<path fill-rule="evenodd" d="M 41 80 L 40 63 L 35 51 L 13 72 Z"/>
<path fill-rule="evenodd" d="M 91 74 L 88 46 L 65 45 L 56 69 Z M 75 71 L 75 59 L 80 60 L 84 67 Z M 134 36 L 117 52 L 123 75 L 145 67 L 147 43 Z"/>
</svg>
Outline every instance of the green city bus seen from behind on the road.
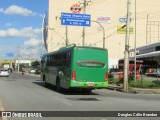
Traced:
<svg viewBox="0 0 160 120">
<path fill-rule="evenodd" d="M 90 92 L 108 87 L 108 51 L 97 47 L 69 46 L 46 53 L 41 60 L 45 85 Z"/>
</svg>

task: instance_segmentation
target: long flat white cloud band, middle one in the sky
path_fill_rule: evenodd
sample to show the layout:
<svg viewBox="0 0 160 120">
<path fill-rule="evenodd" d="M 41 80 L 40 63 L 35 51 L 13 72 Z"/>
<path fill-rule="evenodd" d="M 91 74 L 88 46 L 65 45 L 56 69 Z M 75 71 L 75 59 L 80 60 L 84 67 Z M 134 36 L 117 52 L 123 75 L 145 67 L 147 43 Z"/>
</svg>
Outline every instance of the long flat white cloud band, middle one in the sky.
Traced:
<svg viewBox="0 0 160 120">
<path fill-rule="evenodd" d="M 25 27 L 23 29 L 9 28 L 7 30 L 0 30 L 0 37 L 23 37 L 35 38 L 41 33 L 41 28 L 33 29 L 32 27 Z"/>
</svg>

